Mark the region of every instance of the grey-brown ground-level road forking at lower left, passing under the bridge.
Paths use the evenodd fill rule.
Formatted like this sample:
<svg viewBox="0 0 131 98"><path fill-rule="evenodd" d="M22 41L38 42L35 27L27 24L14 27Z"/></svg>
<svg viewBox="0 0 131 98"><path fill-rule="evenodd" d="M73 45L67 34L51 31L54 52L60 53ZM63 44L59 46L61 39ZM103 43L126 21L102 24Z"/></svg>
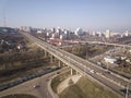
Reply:
<svg viewBox="0 0 131 98"><path fill-rule="evenodd" d="M69 71L67 68L48 73L46 75L43 75L40 77L27 81L23 84L20 84L17 86L11 87L7 90L0 91L0 97L11 95L11 94L29 94L34 95L37 98L52 98L50 95L50 91L48 90L48 82L51 79L53 75L57 74L57 72L66 72ZM39 85L39 87L34 87L35 85Z"/></svg>

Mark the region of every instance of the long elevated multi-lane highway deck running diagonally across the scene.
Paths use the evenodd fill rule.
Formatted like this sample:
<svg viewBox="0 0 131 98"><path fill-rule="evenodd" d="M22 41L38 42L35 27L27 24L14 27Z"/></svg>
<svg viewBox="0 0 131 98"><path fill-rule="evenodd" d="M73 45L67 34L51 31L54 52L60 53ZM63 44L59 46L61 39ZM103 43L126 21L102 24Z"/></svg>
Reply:
<svg viewBox="0 0 131 98"><path fill-rule="evenodd" d="M118 93L119 95L124 96L124 94L121 90L126 89L126 86L129 84L130 79L116 75L112 72L107 73L107 71L105 71L100 66L97 66L96 64L87 60L84 60L72 53L63 51L58 47L55 47L36 37L33 37L27 33L23 33L23 34L26 37L28 37L31 40L33 40L36 45L38 45L40 48L51 53L53 57L56 57L67 65L73 68L80 73L85 73L86 75L92 76L103 85L111 88L114 91ZM129 86L129 88L131 88L131 85Z"/></svg>

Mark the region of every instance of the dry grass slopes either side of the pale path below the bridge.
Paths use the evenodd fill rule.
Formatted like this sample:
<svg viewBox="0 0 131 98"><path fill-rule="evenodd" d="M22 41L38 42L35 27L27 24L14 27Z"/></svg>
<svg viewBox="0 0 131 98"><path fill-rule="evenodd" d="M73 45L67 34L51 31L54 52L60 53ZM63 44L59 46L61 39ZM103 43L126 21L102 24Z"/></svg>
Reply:
<svg viewBox="0 0 131 98"><path fill-rule="evenodd" d="M75 71L73 72L75 74ZM70 76L70 72L55 77L51 82L51 88L57 94L58 85ZM60 98L119 98L111 90L100 86L98 83L81 77L76 84L70 85L61 94Z"/></svg>

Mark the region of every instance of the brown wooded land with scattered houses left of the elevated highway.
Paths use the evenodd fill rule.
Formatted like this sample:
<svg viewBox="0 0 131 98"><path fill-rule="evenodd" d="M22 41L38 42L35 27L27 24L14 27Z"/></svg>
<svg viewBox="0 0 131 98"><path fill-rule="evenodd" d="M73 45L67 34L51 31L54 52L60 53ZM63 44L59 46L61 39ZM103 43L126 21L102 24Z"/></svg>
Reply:
<svg viewBox="0 0 131 98"><path fill-rule="evenodd" d="M49 65L49 57L44 57L44 50L23 35L0 33L0 85L37 72Z"/></svg>

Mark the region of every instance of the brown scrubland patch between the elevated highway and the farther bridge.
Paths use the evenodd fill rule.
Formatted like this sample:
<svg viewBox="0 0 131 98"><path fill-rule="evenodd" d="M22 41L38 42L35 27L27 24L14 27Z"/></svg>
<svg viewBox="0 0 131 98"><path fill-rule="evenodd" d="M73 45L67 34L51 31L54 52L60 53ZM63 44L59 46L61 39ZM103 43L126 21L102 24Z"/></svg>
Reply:
<svg viewBox="0 0 131 98"><path fill-rule="evenodd" d="M93 58L95 56L106 52L110 48L111 46L79 44L72 47L66 47L63 48L63 50L71 52L75 56L79 56L83 59L86 59L86 56L87 56L87 58L90 59L90 58Z"/></svg>

